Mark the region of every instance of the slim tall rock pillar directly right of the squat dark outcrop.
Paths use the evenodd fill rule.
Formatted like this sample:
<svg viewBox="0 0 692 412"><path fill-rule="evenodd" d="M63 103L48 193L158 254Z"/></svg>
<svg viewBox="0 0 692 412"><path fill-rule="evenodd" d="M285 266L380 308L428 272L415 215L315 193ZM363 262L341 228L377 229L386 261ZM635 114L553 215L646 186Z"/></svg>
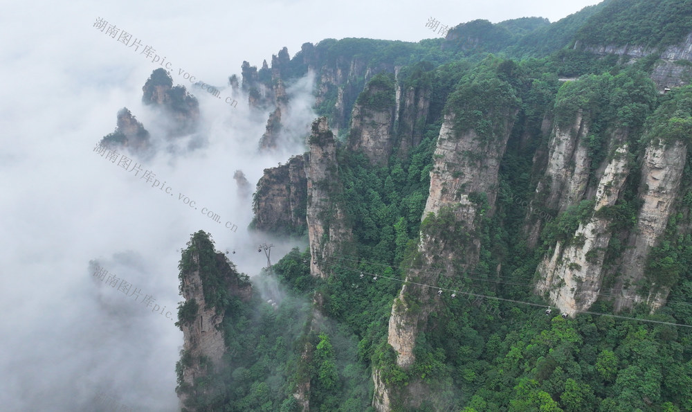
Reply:
<svg viewBox="0 0 692 412"><path fill-rule="evenodd" d="M340 245L350 242L352 231L346 224L342 206L335 200L342 188L337 171L336 141L327 118L319 118L312 124L309 144L306 175L310 273L326 278L327 272L320 262L331 258Z"/></svg>

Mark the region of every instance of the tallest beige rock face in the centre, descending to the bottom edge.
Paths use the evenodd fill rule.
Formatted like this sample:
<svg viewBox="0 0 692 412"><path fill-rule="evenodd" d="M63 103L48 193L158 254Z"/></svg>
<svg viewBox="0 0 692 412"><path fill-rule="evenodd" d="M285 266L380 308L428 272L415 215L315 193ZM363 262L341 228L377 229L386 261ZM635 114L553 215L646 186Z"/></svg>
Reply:
<svg viewBox="0 0 692 412"><path fill-rule="evenodd" d="M491 141L482 141L473 129L457 132L455 114L444 117L439 131L437 148L430 172L430 195L424 209L424 217L432 213L433 218L447 224L421 226L419 255L421 269L408 271L406 280L435 285L441 272L452 275L473 267L478 262L480 240L474 236L478 229L482 206L475 201L475 194L485 193L489 205L487 213L493 213L498 192L498 170L504 156L507 139L513 127L516 109L505 107L498 123L498 136ZM443 227L444 226L444 227ZM464 242L450 239L446 233L464 233ZM428 287L403 285L392 305L389 321L388 343L397 352L397 365L408 368L415 361L413 349L419 330L428 321L430 312L439 304L437 296ZM412 307L416 307L412 310ZM383 384L379 375L373 375L375 397L373 406L378 411L390 410L392 388ZM412 386L411 386L412 387ZM415 407L415 397L408 406Z"/></svg>

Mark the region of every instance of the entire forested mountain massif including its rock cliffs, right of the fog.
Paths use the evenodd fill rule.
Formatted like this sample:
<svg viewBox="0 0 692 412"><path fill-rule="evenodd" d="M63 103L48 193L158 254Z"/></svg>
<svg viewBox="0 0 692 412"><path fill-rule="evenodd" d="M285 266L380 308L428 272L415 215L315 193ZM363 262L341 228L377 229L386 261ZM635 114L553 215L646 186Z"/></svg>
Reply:
<svg viewBox="0 0 692 412"><path fill-rule="evenodd" d="M258 229L309 250L258 280L286 287L277 305L228 299L226 353L185 409L692 410L691 8L611 0L244 64L257 107L316 74L309 150L254 201ZM573 34L532 43L554 26Z"/></svg>

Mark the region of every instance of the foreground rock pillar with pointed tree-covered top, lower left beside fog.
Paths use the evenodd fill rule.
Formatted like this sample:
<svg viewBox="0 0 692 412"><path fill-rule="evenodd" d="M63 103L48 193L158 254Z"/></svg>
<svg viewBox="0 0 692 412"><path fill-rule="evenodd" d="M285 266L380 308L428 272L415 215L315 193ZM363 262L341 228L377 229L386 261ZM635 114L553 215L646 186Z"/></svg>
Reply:
<svg viewBox="0 0 692 412"><path fill-rule="evenodd" d="M209 261L211 260L211 261ZM240 278L235 271L235 265L230 263L223 253L213 250L208 235L198 232L190 240L189 247L183 251L181 269L181 295L185 298L185 319L179 319L178 325L183 330L183 357L181 367L181 382L176 388L182 404L192 393L205 393L205 388L195 386L195 380L208 375L215 365L221 361L226 352L224 334L220 328L224 314L213 303L205 298L204 279L209 279L206 265L214 265L216 273L220 274L219 284L226 294L237 296L242 301L249 301L252 296L252 285L248 280ZM205 269L203 269L203 267ZM179 312L180 314L181 312Z"/></svg>

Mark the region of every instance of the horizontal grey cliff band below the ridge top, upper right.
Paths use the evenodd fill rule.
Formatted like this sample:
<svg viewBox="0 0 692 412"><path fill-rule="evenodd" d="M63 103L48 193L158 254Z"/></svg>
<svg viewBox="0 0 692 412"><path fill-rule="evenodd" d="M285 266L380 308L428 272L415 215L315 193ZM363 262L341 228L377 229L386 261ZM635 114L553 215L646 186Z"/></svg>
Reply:
<svg viewBox="0 0 692 412"><path fill-rule="evenodd" d="M579 44L575 44L574 47L579 48ZM668 46L663 52L659 49L637 44L626 44L625 46L614 46L612 44L585 46L584 50L598 55L614 54L632 59L639 59L652 54L659 55L660 60L653 68L651 80L656 83L657 88L661 91L666 87L679 87L689 84L692 78L692 67L689 63L685 64L686 62L692 62L692 33L687 35L680 44Z"/></svg>

